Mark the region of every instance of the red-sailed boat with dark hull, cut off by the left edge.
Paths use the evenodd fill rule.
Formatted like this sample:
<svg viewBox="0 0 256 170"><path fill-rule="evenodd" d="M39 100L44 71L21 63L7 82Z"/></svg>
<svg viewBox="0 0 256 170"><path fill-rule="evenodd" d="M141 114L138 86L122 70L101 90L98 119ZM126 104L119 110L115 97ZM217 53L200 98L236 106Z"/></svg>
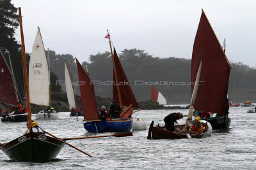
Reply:
<svg viewBox="0 0 256 170"><path fill-rule="evenodd" d="M10 55L9 55L10 60ZM4 55L0 50L0 80L4 80L0 85L0 99L1 104L8 106L11 113L7 113L6 110L1 114L2 122L27 122L28 113L14 114L16 110L16 104L21 103L20 96L18 94L15 78L13 75L12 64L8 66ZM10 69L11 68L11 69Z"/></svg>

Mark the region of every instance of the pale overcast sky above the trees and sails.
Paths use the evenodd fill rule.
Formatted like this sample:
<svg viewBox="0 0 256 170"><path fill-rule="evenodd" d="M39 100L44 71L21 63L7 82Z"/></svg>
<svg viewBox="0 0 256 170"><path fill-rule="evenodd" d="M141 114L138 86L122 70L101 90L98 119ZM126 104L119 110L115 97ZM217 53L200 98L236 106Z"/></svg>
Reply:
<svg viewBox="0 0 256 170"><path fill-rule="evenodd" d="M12 0L21 7L26 52L37 27L45 48L70 53L80 62L110 52L109 29L119 53L145 50L154 57L191 59L202 8L230 62L256 67L256 1L236 0ZM17 29L16 38L20 41Z"/></svg>

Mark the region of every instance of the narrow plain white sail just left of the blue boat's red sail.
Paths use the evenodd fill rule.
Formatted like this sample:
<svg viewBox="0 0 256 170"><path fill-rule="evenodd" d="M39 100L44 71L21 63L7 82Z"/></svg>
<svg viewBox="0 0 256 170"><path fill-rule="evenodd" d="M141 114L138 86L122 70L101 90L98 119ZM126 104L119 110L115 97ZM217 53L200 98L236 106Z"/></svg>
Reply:
<svg viewBox="0 0 256 170"><path fill-rule="evenodd" d="M68 97L68 106L69 106L69 110L71 110L72 108L76 108L76 102L75 102L75 96L74 96L74 89L73 89L70 75L68 73L68 67L66 62L65 62L65 85L66 85L66 91L67 91L67 97Z"/></svg>

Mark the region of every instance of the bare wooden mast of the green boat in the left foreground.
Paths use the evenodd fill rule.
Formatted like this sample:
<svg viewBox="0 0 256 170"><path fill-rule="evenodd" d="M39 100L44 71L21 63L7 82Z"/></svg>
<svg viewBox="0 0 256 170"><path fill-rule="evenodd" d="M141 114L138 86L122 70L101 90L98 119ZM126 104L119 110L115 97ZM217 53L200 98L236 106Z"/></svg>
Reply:
<svg viewBox="0 0 256 170"><path fill-rule="evenodd" d="M22 16L21 16L20 7L19 7L19 19L20 19L20 36L21 36L21 45L22 45L22 60L23 60L23 69L24 69L24 78L25 78L25 87L26 87L26 99L27 99L27 106L28 106L28 125L29 125L29 129L32 130L31 108L30 108L29 89L28 89L28 73L27 73L27 66L26 66L26 52L25 52L24 36L23 36L23 29L22 29Z"/></svg>

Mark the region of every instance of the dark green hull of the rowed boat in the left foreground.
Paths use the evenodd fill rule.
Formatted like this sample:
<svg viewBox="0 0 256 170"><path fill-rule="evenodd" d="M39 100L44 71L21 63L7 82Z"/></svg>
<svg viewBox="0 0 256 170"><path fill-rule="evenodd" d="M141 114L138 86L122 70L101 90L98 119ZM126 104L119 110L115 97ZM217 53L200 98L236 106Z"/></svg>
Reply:
<svg viewBox="0 0 256 170"><path fill-rule="evenodd" d="M23 162L47 162L55 159L65 145L59 139L29 132L1 146L1 150L11 159Z"/></svg>

